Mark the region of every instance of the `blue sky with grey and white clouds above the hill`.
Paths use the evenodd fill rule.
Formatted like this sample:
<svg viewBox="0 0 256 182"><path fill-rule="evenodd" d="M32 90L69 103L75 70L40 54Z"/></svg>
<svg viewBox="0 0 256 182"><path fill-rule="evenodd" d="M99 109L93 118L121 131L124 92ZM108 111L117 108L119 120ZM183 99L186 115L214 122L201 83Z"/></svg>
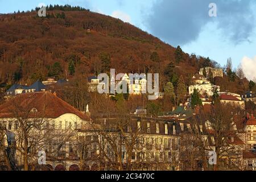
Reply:
<svg viewBox="0 0 256 182"><path fill-rule="evenodd" d="M249 80L256 78L255 0L0 0L0 13L69 4L110 15L189 54L210 57L222 66L231 57ZM216 5L216 16L209 16Z"/></svg>

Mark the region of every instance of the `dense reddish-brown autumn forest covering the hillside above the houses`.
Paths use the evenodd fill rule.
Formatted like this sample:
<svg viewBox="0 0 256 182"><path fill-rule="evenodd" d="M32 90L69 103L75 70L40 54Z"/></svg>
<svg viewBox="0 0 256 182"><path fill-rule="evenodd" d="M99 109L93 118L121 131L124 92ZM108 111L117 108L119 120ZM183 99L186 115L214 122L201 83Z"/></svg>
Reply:
<svg viewBox="0 0 256 182"><path fill-rule="evenodd" d="M168 81L177 88L181 75L188 86L200 68L220 67L111 16L69 5L47 6L46 17L38 17L37 10L0 15L0 87L47 77L86 79L115 68L118 73L159 73L163 90ZM221 90L249 89L246 78L232 68L224 71L224 78L212 81Z"/></svg>

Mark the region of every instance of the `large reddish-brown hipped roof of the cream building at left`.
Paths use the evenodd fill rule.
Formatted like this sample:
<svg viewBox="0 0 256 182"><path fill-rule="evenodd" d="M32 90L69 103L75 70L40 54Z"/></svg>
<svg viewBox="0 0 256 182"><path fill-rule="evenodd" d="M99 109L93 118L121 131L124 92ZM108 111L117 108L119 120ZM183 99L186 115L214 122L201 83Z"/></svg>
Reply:
<svg viewBox="0 0 256 182"><path fill-rule="evenodd" d="M34 108L37 111L35 113L30 112ZM14 118L14 111L18 113L19 117L57 118L60 115L70 113L86 121L90 119L51 92L19 94L0 106L0 118Z"/></svg>

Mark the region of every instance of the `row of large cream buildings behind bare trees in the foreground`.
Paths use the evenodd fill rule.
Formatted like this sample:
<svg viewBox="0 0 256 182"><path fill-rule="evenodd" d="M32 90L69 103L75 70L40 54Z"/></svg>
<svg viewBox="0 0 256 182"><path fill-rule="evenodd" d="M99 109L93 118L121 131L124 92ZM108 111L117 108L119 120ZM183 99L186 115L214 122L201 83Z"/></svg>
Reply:
<svg viewBox="0 0 256 182"><path fill-rule="evenodd" d="M233 160L243 160L245 169L253 169L256 119L249 114L236 120L237 117L234 114L230 126L236 135L226 138L226 146L239 148L240 154L232 154ZM0 106L1 131L6 134L4 146L11 149L9 155L13 156L15 167L24 166L24 123L38 126L31 127L33 132L26 144L30 164L36 164L38 151L44 150L49 169L72 166L87 170L202 170L205 166L200 154L193 164L188 161L191 158L187 150L192 147L197 151L191 138L199 133L213 151L217 142L211 121L186 107L179 106L158 118L147 117L144 109L128 115L90 117L51 92L23 93ZM206 158L208 152L205 151Z"/></svg>

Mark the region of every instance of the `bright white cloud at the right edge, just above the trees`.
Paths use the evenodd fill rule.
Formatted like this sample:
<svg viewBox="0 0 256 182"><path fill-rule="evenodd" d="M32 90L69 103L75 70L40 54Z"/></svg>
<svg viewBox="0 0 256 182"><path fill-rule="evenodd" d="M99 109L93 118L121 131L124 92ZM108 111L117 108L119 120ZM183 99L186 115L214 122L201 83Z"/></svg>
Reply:
<svg viewBox="0 0 256 182"><path fill-rule="evenodd" d="M253 59L245 56L241 61L241 68L248 80L256 79L256 56Z"/></svg>

